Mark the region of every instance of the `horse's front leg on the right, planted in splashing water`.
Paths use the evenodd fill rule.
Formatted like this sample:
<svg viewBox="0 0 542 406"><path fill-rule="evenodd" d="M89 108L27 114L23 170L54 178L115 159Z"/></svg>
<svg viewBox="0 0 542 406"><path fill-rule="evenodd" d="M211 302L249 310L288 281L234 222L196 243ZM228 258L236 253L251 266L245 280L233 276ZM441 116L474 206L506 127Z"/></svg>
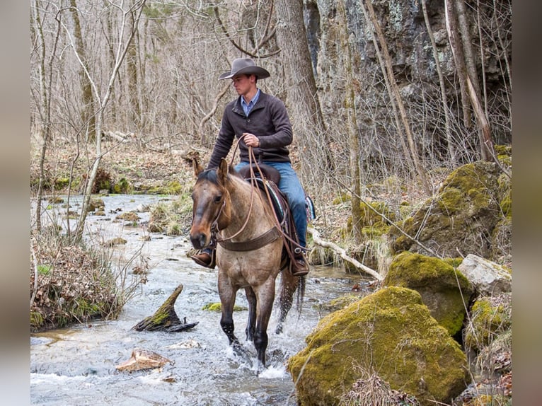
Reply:
<svg viewBox="0 0 542 406"><path fill-rule="evenodd" d="M265 366L265 350L267 349L267 325L275 301L275 279L270 277L265 284L258 288L256 293L256 330L254 332L254 347L258 352L258 360Z"/></svg>

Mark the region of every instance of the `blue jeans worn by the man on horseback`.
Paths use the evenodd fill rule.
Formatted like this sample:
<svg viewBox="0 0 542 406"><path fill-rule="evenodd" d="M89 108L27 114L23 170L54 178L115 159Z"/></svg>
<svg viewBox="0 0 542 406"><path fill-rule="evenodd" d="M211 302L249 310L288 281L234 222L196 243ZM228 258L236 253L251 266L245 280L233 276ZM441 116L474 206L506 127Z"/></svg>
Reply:
<svg viewBox="0 0 542 406"><path fill-rule="evenodd" d="M294 224L296 225L297 236L299 237L299 245L306 247L307 233L307 214L305 209L305 191L297 178L296 171L292 168L289 162L269 162L263 161L266 165L272 166L280 173L279 189L288 199ZM248 162L240 162L236 165L236 170L248 165Z"/></svg>

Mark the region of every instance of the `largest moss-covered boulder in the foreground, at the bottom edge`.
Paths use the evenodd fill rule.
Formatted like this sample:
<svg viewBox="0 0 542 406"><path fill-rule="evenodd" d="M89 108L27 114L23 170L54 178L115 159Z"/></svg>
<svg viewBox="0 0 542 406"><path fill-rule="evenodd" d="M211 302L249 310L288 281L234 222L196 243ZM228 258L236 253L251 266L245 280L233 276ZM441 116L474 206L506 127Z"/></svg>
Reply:
<svg viewBox="0 0 542 406"><path fill-rule="evenodd" d="M451 402L470 381L459 344L411 289L384 288L325 316L306 342L287 365L303 406L338 405L359 370L427 406Z"/></svg>

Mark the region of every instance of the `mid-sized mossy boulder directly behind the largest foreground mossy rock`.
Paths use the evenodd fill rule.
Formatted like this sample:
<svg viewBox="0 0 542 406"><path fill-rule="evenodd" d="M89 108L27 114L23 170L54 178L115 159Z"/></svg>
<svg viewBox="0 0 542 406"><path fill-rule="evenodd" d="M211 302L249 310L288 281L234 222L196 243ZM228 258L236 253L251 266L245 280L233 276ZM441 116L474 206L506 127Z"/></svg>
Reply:
<svg viewBox="0 0 542 406"><path fill-rule="evenodd" d="M393 258L383 286L419 292L432 317L451 336L461 331L466 306L474 294L471 282L456 267L438 258L408 252Z"/></svg>

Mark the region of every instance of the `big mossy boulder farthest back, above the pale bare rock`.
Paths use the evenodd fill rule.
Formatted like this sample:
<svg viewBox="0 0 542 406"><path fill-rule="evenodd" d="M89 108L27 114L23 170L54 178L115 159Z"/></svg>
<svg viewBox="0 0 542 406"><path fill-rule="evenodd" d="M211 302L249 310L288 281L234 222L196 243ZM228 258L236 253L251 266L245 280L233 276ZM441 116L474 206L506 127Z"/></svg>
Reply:
<svg viewBox="0 0 542 406"><path fill-rule="evenodd" d="M398 226L388 231L392 253L412 251L454 257L476 254L492 259L491 236L503 217L500 169L495 163L475 162L457 168L443 182L436 197L427 201Z"/></svg>

